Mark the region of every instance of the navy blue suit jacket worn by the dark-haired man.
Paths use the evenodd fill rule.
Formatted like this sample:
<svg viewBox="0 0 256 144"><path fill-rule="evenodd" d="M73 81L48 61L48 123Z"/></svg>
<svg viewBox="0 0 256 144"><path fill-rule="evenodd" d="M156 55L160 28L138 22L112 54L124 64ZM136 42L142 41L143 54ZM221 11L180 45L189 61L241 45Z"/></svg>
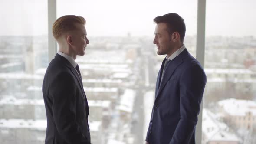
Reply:
<svg viewBox="0 0 256 144"><path fill-rule="evenodd" d="M165 62L165 60L164 60ZM195 126L206 84L200 63L187 49L158 73L146 141L150 144L195 144Z"/></svg>

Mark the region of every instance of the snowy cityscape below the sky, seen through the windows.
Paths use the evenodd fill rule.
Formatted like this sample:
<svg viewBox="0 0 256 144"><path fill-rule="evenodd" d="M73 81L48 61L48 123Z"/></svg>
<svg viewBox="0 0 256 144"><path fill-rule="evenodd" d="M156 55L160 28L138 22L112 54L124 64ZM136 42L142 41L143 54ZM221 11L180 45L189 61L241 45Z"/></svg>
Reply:
<svg viewBox="0 0 256 144"><path fill-rule="evenodd" d="M0 144L44 144L47 36L0 36ZM153 37L89 37L78 56L92 144L144 144L158 70ZM196 57L196 36L184 44ZM53 48L54 49L54 48ZM206 37L202 144L256 144L256 37Z"/></svg>

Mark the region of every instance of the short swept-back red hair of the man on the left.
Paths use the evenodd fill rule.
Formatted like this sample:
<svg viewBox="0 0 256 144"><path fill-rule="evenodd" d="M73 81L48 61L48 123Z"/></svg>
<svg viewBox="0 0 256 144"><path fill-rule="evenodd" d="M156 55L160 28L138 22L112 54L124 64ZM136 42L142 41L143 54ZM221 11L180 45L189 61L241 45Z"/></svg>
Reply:
<svg viewBox="0 0 256 144"><path fill-rule="evenodd" d="M63 33L77 29L76 24L85 25L86 21L82 16L66 15L59 17L53 23L53 36L57 40Z"/></svg>

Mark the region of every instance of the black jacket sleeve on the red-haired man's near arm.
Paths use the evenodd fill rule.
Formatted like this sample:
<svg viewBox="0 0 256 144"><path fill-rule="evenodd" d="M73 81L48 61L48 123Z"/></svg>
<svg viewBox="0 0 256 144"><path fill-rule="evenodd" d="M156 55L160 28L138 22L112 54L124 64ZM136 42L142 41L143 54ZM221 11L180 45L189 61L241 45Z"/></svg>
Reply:
<svg viewBox="0 0 256 144"><path fill-rule="evenodd" d="M69 72L61 72L49 86L53 120L57 131L68 144L90 144L76 121L76 84Z"/></svg>

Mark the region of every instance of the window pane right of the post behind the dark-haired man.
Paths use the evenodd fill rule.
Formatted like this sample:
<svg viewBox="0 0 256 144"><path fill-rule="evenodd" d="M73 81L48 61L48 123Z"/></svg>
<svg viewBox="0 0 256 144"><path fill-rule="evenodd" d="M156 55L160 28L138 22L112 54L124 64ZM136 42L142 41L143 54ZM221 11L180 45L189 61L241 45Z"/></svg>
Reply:
<svg viewBox="0 0 256 144"><path fill-rule="evenodd" d="M203 144L256 143L255 5L207 0Z"/></svg>

